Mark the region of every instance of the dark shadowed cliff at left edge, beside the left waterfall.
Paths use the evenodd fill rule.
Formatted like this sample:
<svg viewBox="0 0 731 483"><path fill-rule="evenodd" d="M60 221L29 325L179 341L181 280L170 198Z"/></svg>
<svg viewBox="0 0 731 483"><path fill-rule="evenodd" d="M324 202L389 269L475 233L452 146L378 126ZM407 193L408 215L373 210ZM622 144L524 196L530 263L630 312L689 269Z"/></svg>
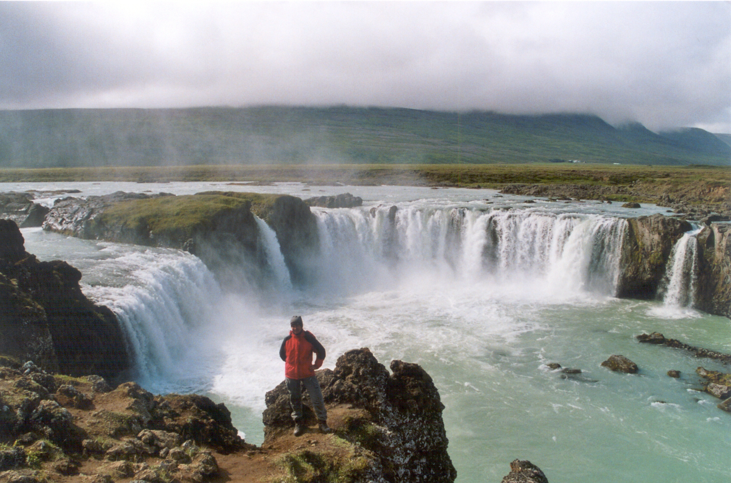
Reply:
<svg viewBox="0 0 731 483"><path fill-rule="evenodd" d="M67 262L39 262L18 225L0 220L0 353L76 376L129 368L116 316L86 298L80 279Z"/></svg>

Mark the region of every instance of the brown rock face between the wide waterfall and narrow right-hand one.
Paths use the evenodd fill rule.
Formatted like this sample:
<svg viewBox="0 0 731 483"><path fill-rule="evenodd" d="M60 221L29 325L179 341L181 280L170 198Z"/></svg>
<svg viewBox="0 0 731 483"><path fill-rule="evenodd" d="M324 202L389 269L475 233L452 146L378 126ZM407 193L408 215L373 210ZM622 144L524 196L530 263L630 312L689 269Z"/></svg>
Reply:
<svg viewBox="0 0 731 483"><path fill-rule="evenodd" d="M675 242L690 229L688 221L660 214L629 218L617 297L654 299Z"/></svg>

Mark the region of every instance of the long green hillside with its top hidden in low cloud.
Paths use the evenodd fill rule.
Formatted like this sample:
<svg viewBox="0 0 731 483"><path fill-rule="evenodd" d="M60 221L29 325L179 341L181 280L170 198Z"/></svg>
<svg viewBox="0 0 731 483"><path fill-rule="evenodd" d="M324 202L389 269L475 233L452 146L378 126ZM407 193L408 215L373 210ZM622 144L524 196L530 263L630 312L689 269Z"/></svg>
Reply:
<svg viewBox="0 0 731 483"><path fill-rule="evenodd" d="M593 115L357 107L0 111L1 167L189 164L731 165L702 129L656 134Z"/></svg>

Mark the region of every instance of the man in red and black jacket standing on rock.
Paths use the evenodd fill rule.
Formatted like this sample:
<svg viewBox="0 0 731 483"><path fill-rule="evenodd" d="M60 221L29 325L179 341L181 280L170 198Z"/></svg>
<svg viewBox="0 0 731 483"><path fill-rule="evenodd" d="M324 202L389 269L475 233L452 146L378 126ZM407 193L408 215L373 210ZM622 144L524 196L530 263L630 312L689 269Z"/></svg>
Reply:
<svg viewBox="0 0 731 483"><path fill-rule="evenodd" d="M292 330L281 343L279 357L284 361L289 403L292 405L292 418L295 419L295 436L300 436L305 431L302 417L302 386L310 395L320 431L330 433L330 427L327 427L327 411L325 402L322 400L322 390L315 376L315 370L319 369L322 361L325 360L325 348L312 335L312 332L303 329L302 317L292 317L289 327ZM317 354L314 364L312 363L313 352Z"/></svg>

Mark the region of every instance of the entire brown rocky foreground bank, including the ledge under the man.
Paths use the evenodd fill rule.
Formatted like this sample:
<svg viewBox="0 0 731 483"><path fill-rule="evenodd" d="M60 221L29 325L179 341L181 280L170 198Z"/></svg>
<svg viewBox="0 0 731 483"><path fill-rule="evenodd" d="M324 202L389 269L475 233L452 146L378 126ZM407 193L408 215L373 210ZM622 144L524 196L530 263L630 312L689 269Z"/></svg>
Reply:
<svg viewBox="0 0 731 483"><path fill-rule="evenodd" d="M317 372L327 434L308 406L308 429L292 434L280 384L267 394L257 447L203 396L152 395L134 382L113 389L100 376L0 357L0 482L453 482L431 377L408 362L390 368L355 349Z"/></svg>

